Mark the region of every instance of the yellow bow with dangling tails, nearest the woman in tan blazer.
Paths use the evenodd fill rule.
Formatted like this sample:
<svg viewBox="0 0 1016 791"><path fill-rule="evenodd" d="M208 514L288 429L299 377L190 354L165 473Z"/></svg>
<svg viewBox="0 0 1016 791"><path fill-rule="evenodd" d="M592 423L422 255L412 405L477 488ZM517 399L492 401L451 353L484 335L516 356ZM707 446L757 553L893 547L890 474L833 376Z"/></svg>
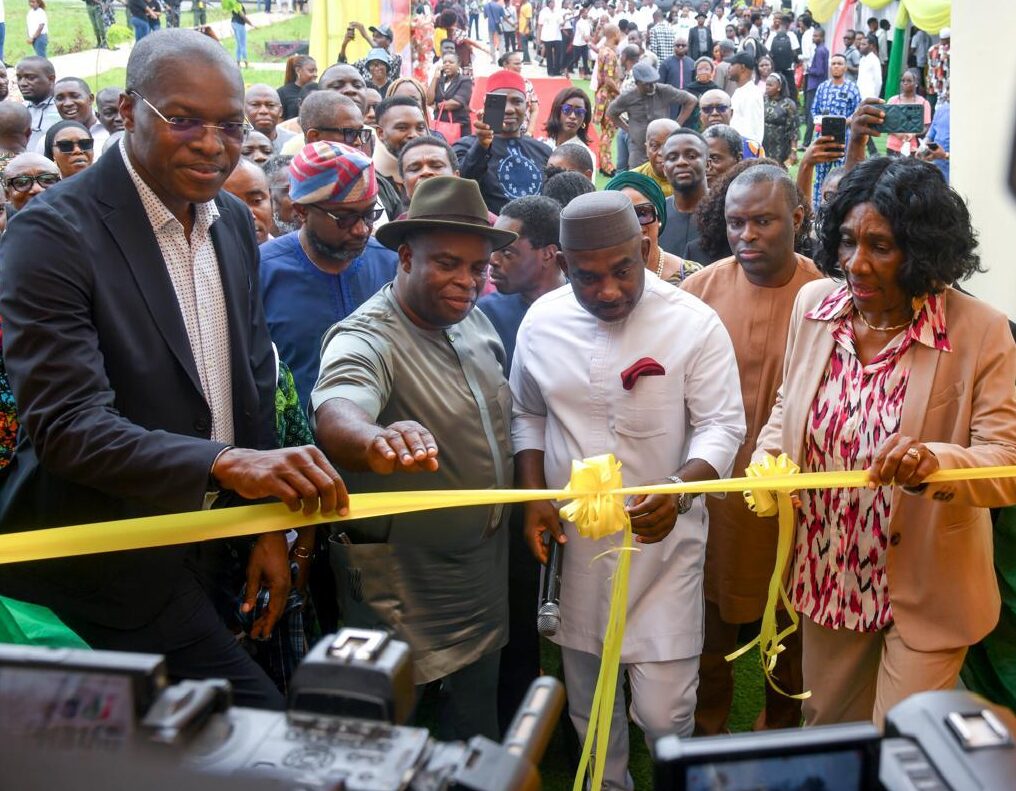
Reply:
<svg viewBox="0 0 1016 791"><path fill-rule="evenodd" d="M800 470L801 468L785 453L781 453L777 458L773 458L767 453L762 459L752 462L751 466L745 470L745 473L749 478L756 478L759 482L763 482L766 479L792 476ZM793 606L790 604L786 585L783 583L786 575L786 566L790 562L790 554L793 551L795 521L790 492L754 488L745 491L745 502L748 503L748 508L754 511L756 516L769 517L773 514L779 514L779 534L776 540L776 566L773 569L772 577L769 578L769 592L766 596L765 609L762 612L762 627L759 630L758 637L724 658L727 662L733 662L739 656L746 654L755 646L758 646L762 672L765 674L765 679L769 685L782 696L792 698L796 701L806 701L812 696L810 691L802 691L797 695L783 691L773 677L776 669L776 659L785 648L783 641L798 631L800 621L797 611L795 611ZM790 624L781 632L776 629L777 600L782 602L783 608L790 618Z"/></svg>

